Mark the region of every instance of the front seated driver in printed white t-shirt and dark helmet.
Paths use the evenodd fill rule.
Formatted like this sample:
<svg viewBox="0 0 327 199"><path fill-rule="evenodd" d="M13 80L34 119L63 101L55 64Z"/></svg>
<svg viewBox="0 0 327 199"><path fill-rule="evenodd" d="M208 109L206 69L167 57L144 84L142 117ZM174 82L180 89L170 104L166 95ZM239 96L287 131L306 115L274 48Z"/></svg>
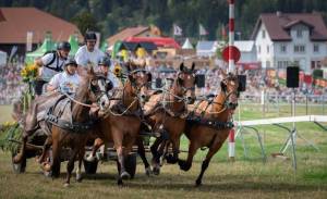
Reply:
<svg viewBox="0 0 327 199"><path fill-rule="evenodd" d="M69 59L64 64L64 72L55 75L47 87L48 91L60 90L65 94L75 94L80 84L80 76L76 73L77 63Z"/></svg>

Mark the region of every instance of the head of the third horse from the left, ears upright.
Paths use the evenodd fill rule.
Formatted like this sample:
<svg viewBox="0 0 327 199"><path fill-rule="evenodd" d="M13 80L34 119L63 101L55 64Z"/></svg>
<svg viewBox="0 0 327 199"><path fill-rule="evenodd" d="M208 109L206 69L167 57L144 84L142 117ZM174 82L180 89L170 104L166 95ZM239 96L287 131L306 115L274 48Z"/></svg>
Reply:
<svg viewBox="0 0 327 199"><path fill-rule="evenodd" d="M194 103L196 83L195 64L192 63L192 67L187 69L184 66L184 63L181 63L175 83L174 89L177 95L184 97L187 103Z"/></svg>

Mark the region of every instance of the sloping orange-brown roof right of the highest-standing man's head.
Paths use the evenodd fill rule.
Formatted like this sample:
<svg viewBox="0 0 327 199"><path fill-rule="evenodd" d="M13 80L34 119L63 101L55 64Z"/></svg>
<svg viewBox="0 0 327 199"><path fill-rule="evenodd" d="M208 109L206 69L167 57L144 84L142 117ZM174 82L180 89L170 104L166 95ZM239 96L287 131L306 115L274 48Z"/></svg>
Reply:
<svg viewBox="0 0 327 199"><path fill-rule="evenodd" d="M138 36L140 34L149 29L150 28L148 26L128 27L119 32L118 34L107 38L107 42L109 43L109 46L111 46L118 40L125 40L129 37Z"/></svg>

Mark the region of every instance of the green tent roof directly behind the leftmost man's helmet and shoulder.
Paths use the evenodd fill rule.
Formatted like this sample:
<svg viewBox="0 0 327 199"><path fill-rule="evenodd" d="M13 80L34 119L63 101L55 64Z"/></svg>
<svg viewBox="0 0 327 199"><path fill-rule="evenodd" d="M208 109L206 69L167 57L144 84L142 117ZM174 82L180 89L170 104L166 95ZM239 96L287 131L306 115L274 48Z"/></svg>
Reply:
<svg viewBox="0 0 327 199"><path fill-rule="evenodd" d="M31 64L35 59L43 57L46 52L55 50L55 42L51 37L46 37L44 43L34 52L26 53L25 63Z"/></svg>

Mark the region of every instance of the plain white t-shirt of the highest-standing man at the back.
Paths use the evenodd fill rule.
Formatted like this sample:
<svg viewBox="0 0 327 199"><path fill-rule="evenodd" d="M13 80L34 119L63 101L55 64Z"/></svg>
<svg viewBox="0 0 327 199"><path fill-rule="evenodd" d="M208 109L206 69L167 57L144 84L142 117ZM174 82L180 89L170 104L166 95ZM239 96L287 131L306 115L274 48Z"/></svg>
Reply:
<svg viewBox="0 0 327 199"><path fill-rule="evenodd" d="M95 48L93 52L89 52L86 45L84 45L78 48L75 54L75 60L77 64L82 66L86 66L88 62L90 62L94 66L97 66L102 57L105 57L105 53L98 48Z"/></svg>

